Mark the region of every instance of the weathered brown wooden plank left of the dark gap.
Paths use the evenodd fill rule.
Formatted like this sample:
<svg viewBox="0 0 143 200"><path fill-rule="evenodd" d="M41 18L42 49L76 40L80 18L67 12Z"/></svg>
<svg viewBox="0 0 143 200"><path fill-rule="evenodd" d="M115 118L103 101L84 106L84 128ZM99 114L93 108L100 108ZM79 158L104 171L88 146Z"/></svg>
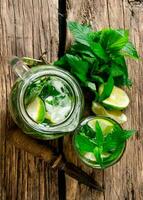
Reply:
<svg viewBox="0 0 143 200"><path fill-rule="evenodd" d="M57 59L59 44L58 0L0 0L0 199L58 199L57 173L46 163L7 144L13 124L8 96L14 75L8 66L12 55Z"/></svg>

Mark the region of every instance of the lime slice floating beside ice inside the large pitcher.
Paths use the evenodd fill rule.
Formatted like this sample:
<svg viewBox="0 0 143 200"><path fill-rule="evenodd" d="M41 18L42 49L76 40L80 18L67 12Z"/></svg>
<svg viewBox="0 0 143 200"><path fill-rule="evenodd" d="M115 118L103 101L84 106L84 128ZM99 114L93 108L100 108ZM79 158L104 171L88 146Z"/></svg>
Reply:
<svg viewBox="0 0 143 200"><path fill-rule="evenodd" d="M36 97L26 109L28 115L37 123L42 123L45 118L45 105L44 102Z"/></svg>

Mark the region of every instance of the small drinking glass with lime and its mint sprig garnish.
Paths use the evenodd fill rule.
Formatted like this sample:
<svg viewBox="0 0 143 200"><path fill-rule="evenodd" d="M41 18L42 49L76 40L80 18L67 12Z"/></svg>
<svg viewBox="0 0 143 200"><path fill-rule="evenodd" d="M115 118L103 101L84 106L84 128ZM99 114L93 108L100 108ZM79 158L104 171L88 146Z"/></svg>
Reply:
<svg viewBox="0 0 143 200"><path fill-rule="evenodd" d="M84 163L93 168L104 169L121 158L126 140L134 133L134 130L123 130L110 118L89 117L77 129L73 145Z"/></svg>

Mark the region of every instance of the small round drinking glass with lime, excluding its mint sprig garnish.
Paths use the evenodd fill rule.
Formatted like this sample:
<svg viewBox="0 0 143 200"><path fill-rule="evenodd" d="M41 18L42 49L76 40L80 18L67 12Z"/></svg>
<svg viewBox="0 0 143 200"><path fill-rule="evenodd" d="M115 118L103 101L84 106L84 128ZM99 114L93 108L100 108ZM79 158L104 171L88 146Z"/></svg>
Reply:
<svg viewBox="0 0 143 200"><path fill-rule="evenodd" d="M110 167L117 163L120 158L123 156L123 153L126 148L126 142L121 143L118 148L111 149L110 152L102 152L101 156L103 159L103 166L98 163L94 148L96 147L96 133L95 133L95 140L93 141L91 137L89 136L88 131L86 131L86 136L83 133L82 128L85 125L89 125L93 130L95 130L96 122L99 122L103 136L108 136L109 133L112 133L113 126L115 125L120 130L122 127L114 120L110 119L109 117L103 117L103 116L90 116L84 119L77 130L75 131L75 134L73 135L73 147L75 152L77 153L78 157L82 162L84 162L86 165L97 168L97 169L104 169L107 167ZM81 135L81 137L80 137ZM93 134L94 135L94 134Z"/></svg>

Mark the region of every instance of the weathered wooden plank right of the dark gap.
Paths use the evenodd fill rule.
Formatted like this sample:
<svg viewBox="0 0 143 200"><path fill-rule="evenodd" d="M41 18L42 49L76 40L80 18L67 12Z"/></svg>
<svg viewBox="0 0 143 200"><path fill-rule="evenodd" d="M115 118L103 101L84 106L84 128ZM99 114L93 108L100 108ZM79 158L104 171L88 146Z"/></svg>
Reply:
<svg viewBox="0 0 143 200"><path fill-rule="evenodd" d="M143 5L141 1L80 0L77 3L75 0L68 0L67 12L69 19L87 22L94 29L104 27L128 28L132 41L140 55L142 55ZM143 105L143 67L142 62L131 60L128 61L128 65L134 84L132 89L128 91L131 103L126 111L128 122L125 127L135 128L139 132L128 142L122 160L115 166L104 170L104 172L92 170L82 164L73 151L71 145L72 137L65 137L64 151L66 157L81 166L82 169L86 170L105 186L105 192L98 194L85 186L78 185L75 180L66 177L67 199L143 199L143 145L141 142L143 138L143 111L141 109Z"/></svg>

